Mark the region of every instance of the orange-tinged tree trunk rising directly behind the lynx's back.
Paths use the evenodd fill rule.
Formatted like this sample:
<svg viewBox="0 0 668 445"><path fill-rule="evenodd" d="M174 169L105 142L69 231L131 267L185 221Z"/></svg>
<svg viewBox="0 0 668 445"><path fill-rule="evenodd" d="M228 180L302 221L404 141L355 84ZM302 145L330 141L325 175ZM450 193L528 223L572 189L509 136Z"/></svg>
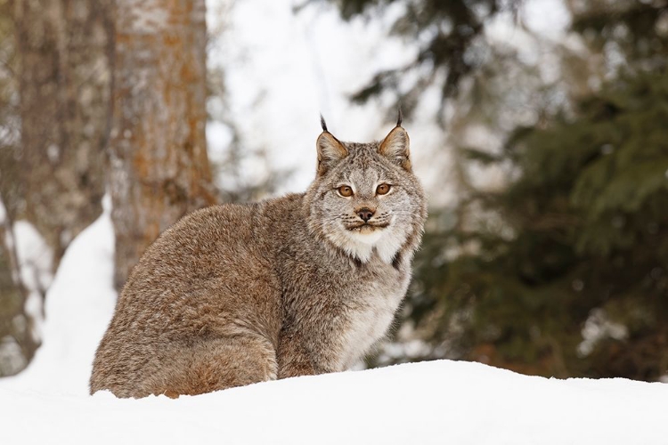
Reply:
<svg viewBox="0 0 668 445"><path fill-rule="evenodd" d="M206 38L204 0L116 4L110 188L118 288L161 231L214 202Z"/></svg>

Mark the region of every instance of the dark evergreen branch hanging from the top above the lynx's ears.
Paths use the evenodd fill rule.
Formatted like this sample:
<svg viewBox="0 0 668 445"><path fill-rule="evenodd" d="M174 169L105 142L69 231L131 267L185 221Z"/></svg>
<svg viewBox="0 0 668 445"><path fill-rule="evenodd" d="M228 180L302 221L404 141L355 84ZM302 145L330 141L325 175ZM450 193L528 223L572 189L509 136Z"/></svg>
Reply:
<svg viewBox="0 0 668 445"><path fill-rule="evenodd" d="M404 114L410 114L428 85L441 90L439 117L448 99L459 93L463 79L481 69L489 47L483 36L486 23L501 12L517 12L522 0L328 0L338 5L341 16L350 20L368 12L379 13L391 4L401 11L389 33L414 42L415 57L370 79L353 101L364 102L384 91L395 94ZM309 2L306 2L306 4ZM411 78L411 82L406 79ZM396 105L392 107L394 115Z"/></svg>

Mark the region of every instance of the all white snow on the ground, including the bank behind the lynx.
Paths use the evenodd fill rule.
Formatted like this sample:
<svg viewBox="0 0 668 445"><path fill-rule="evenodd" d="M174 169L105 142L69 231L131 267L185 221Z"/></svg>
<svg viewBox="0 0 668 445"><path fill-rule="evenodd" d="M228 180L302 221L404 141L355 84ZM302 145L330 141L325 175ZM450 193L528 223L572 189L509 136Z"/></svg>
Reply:
<svg viewBox="0 0 668 445"><path fill-rule="evenodd" d="M668 384L546 379L439 360L253 384L177 400L87 394L110 320L108 202L47 295L44 345L0 380L3 444L666 444Z"/></svg>

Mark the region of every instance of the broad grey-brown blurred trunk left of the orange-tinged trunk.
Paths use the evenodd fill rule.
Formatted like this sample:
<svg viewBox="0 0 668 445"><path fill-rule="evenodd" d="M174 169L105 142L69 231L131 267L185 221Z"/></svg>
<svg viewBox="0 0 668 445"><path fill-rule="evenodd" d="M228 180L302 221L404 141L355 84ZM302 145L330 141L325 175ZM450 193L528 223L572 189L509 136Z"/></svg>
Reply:
<svg viewBox="0 0 668 445"><path fill-rule="evenodd" d="M102 213L110 116L108 0L14 0L24 212L53 248Z"/></svg>

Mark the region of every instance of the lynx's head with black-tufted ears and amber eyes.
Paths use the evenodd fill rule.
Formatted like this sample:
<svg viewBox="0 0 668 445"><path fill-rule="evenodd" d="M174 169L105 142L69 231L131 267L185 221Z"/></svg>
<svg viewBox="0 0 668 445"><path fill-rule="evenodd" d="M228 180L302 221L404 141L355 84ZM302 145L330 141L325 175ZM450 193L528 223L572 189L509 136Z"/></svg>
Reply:
<svg viewBox="0 0 668 445"><path fill-rule="evenodd" d="M383 141L354 143L338 141L322 119L317 174L306 192L309 229L363 263L374 253L393 263L420 243L427 207L401 121L400 112Z"/></svg>

